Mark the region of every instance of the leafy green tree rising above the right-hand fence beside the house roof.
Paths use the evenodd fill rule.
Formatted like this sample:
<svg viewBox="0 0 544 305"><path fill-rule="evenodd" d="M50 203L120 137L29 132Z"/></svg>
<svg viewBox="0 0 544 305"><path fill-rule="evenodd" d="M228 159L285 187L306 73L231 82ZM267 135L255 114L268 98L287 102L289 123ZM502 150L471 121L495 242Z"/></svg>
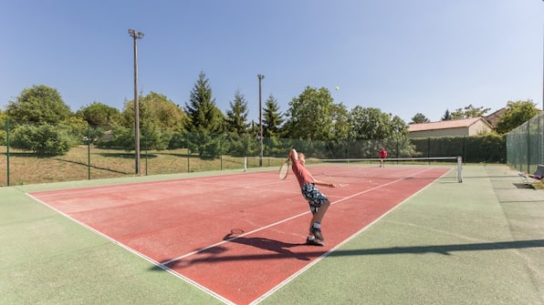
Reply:
<svg viewBox="0 0 544 305"><path fill-rule="evenodd" d="M537 108L537 104L530 99L517 102L508 101L507 111L498 119L497 133L506 134L539 113L540 110Z"/></svg>

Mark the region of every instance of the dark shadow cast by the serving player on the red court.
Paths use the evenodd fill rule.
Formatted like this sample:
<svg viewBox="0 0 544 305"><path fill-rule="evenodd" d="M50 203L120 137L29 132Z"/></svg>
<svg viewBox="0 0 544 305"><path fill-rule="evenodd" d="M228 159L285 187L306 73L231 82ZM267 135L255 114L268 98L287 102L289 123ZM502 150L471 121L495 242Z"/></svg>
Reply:
<svg viewBox="0 0 544 305"><path fill-rule="evenodd" d="M228 233L225 235L223 240L228 242L234 242L241 245L251 246L258 249L266 249L268 251L276 252L277 255L275 256L277 259L300 259L300 260L309 260L309 257L301 254L301 253L294 253L290 248L298 247L298 246L305 246L305 243L287 243L283 241L278 241L275 239L265 239L265 238L246 238L243 236L235 236L233 233Z"/></svg>

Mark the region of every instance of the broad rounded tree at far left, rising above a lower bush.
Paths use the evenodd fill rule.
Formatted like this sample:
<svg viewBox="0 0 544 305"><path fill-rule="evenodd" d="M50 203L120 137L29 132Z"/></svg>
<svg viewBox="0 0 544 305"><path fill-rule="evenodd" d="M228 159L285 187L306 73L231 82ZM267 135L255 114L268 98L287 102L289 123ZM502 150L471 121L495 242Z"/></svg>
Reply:
<svg viewBox="0 0 544 305"><path fill-rule="evenodd" d="M6 113L15 124L57 124L72 115L57 89L44 85L24 89L16 101L8 103Z"/></svg>

